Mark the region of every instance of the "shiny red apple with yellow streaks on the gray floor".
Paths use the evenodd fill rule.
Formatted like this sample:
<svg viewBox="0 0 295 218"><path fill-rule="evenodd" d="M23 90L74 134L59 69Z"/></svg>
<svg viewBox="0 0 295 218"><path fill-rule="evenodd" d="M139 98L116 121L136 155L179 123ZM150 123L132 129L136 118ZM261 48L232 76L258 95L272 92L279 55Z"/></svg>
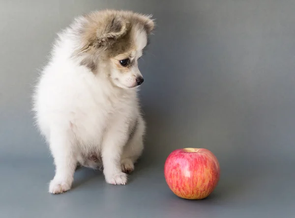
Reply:
<svg viewBox="0 0 295 218"><path fill-rule="evenodd" d="M217 186L220 167L217 158L205 148L173 151L164 165L168 187L178 197L204 199Z"/></svg>

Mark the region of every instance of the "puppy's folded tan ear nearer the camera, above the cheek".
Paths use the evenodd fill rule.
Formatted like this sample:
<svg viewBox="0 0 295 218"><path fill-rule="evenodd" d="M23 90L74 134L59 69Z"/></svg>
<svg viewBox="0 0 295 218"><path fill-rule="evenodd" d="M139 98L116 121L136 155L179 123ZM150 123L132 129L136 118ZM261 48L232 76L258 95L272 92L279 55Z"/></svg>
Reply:
<svg viewBox="0 0 295 218"><path fill-rule="evenodd" d="M97 29L96 37L98 42L108 42L111 39L116 39L122 36L127 31L127 21L120 16L115 16L113 18L107 18L108 21L105 25Z"/></svg>

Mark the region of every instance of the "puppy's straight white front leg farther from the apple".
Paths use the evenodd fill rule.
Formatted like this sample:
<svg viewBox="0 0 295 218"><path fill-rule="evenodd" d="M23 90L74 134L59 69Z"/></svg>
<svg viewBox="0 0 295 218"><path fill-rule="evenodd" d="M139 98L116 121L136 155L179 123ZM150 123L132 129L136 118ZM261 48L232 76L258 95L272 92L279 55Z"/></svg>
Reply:
<svg viewBox="0 0 295 218"><path fill-rule="evenodd" d="M77 160L73 150L73 140L64 131L53 131L50 149L56 166L56 173L49 185L49 192L58 194L71 189Z"/></svg>

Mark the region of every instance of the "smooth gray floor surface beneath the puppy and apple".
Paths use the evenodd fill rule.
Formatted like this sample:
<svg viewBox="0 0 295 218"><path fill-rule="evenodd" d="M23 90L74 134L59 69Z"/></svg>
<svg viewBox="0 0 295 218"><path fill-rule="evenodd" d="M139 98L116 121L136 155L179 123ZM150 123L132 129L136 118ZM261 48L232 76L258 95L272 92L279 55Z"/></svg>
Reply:
<svg viewBox="0 0 295 218"><path fill-rule="evenodd" d="M295 216L294 163L224 166L215 191L207 199L196 201L174 195L166 185L163 163L148 164L145 158L125 186L108 185L101 172L80 168L73 189L59 195L47 192L54 175L50 158L2 161L1 218Z"/></svg>

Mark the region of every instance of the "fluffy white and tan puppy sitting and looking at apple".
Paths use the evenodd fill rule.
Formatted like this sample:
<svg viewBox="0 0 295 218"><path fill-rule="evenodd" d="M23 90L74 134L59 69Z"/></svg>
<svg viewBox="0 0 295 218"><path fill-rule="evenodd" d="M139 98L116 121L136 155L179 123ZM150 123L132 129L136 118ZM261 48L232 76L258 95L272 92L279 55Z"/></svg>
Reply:
<svg viewBox="0 0 295 218"><path fill-rule="evenodd" d="M58 34L32 107L54 158L49 192L70 190L77 165L101 168L109 184L126 184L144 149L138 59L153 28L150 16L103 10Z"/></svg>

